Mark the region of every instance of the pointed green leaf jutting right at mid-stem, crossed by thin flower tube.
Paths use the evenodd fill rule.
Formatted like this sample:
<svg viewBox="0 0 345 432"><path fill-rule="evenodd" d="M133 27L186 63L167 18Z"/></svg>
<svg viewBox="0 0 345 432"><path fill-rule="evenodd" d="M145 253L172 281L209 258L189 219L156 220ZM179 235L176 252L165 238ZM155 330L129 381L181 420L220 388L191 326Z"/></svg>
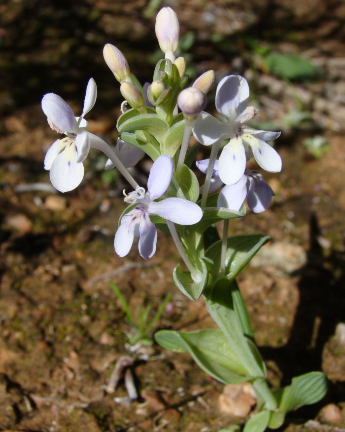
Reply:
<svg viewBox="0 0 345 432"><path fill-rule="evenodd" d="M225 276L233 280L269 240L269 236L261 234L230 236L225 256ZM218 240L205 253L214 262L214 275L219 274L221 247L222 240Z"/></svg>

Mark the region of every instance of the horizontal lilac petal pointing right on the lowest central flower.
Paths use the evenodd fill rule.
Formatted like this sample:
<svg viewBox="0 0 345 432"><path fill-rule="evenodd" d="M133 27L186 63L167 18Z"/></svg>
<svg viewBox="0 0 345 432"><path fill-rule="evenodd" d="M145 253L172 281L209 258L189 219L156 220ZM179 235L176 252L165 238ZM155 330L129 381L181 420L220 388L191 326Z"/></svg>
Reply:
<svg viewBox="0 0 345 432"><path fill-rule="evenodd" d="M150 202L147 211L180 225L194 225L203 217L203 211L198 204L183 198Z"/></svg>

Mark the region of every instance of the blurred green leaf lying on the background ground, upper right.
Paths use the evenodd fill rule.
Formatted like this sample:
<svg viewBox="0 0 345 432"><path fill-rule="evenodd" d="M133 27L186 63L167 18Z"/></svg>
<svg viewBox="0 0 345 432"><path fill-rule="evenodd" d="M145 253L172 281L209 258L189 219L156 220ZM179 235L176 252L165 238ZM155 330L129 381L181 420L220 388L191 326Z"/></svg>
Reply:
<svg viewBox="0 0 345 432"><path fill-rule="evenodd" d="M264 57L268 69L281 78L310 80L321 75L320 69L297 54L272 53Z"/></svg>

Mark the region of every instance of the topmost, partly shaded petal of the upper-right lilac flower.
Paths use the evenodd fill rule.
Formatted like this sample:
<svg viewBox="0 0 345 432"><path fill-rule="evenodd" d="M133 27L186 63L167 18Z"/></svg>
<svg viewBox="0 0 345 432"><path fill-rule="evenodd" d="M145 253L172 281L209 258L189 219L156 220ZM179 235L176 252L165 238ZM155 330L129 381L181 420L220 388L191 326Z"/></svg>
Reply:
<svg viewBox="0 0 345 432"><path fill-rule="evenodd" d="M228 75L217 86L216 109L229 120L235 120L245 110L249 98L249 85L240 75Z"/></svg>

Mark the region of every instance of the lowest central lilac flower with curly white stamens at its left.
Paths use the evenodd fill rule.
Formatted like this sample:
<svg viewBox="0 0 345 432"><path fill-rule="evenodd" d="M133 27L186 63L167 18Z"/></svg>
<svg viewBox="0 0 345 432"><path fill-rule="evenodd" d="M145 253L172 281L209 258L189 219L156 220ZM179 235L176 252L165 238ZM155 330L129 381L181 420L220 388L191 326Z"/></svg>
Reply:
<svg viewBox="0 0 345 432"><path fill-rule="evenodd" d="M173 177L173 159L170 156L158 157L152 165L147 182L147 192L144 188L137 187L125 197L129 203L138 203L134 209L126 213L118 228L114 247L120 256L126 256L131 250L134 237L139 237L139 253L144 259L151 258L156 251L157 230L150 221L150 215L158 215L162 218L180 225L193 225L203 216L201 208L194 202L182 198L161 197Z"/></svg>

